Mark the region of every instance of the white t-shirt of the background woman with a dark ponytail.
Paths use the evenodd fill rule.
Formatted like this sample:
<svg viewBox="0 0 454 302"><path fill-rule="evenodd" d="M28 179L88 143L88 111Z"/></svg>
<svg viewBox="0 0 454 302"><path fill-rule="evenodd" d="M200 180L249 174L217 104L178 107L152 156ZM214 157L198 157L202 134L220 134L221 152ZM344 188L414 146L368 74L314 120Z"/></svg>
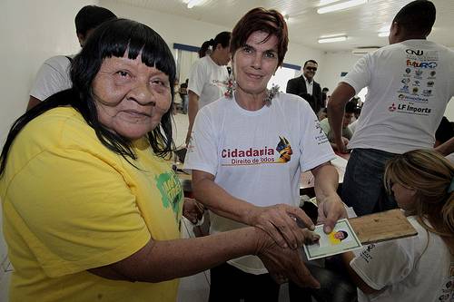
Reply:
<svg viewBox="0 0 454 302"><path fill-rule="evenodd" d="M209 55L192 64L188 89L199 96L199 109L224 95L228 77L227 67L214 63Z"/></svg>

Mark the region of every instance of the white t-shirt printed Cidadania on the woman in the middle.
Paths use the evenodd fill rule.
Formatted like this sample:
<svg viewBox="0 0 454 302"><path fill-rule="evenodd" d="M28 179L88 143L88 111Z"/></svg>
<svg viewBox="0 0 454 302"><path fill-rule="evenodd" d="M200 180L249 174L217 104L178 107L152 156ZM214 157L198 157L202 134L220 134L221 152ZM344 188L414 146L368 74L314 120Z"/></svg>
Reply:
<svg viewBox="0 0 454 302"><path fill-rule="evenodd" d="M309 103L297 95L279 93L271 106L253 112L225 97L203 107L195 119L184 165L214 175L222 189L254 205L298 206L301 171L334 157ZM212 233L244 227L218 215L211 218ZM257 257L229 263L252 274L267 272Z"/></svg>

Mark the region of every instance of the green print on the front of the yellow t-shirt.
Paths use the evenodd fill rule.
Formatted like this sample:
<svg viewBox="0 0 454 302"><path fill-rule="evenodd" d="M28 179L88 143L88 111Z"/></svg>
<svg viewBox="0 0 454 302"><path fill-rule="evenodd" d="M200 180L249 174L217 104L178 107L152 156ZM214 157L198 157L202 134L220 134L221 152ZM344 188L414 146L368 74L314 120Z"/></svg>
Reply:
<svg viewBox="0 0 454 302"><path fill-rule="evenodd" d="M172 207L175 219L178 220L179 204L183 200L183 190L180 181L174 173L162 173L154 179L156 180L156 186L161 192L164 208Z"/></svg>

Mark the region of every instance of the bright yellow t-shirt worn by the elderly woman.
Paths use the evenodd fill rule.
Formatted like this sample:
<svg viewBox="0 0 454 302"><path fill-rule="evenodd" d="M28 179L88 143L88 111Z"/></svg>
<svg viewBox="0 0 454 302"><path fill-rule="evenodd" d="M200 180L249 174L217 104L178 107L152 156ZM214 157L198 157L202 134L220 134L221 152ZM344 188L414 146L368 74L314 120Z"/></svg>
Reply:
<svg viewBox="0 0 454 302"><path fill-rule="evenodd" d="M178 280L115 281L86 271L127 258L150 238L180 238L180 182L147 141L133 149L135 167L72 108L45 112L19 133L0 179L11 302L176 299Z"/></svg>

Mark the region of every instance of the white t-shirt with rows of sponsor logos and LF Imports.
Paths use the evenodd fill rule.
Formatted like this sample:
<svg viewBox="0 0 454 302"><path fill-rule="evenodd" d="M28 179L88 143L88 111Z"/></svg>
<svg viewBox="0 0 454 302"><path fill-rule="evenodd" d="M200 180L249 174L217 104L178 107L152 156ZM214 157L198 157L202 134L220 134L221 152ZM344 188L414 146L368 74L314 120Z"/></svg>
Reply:
<svg viewBox="0 0 454 302"><path fill-rule="evenodd" d="M433 148L454 95L454 52L427 40L390 44L364 55L342 82L355 93L368 87L350 149Z"/></svg>

